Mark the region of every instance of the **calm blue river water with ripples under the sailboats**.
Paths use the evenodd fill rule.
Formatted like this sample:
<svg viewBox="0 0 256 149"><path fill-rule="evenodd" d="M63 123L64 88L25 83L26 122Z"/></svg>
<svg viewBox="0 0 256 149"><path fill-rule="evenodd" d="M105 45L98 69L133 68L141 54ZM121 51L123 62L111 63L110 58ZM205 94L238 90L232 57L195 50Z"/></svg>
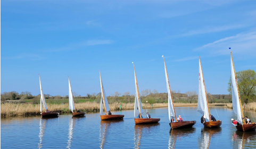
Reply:
<svg viewBox="0 0 256 149"><path fill-rule="evenodd" d="M222 120L221 128L203 128L201 115L193 108L176 108L184 120L196 120L191 129L171 130L168 109L146 109L159 124L135 125L134 111L115 112L125 115L121 121L101 121L100 114L83 118L61 115L1 119L2 148L255 148L255 132L237 132L231 124L232 110L211 108L211 114ZM184 116L184 114L186 114ZM256 113L246 113L256 119Z"/></svg>

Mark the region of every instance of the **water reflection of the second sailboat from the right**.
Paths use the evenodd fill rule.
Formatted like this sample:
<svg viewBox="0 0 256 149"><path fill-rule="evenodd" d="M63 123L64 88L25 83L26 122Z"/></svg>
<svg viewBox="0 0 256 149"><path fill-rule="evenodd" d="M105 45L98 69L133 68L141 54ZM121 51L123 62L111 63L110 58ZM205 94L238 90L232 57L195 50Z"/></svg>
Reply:
<svg viewBox="0 0 256 149"><path fill-rule="evenodd" d="M211 137L217 136L221 133L221 127L218 128L202 128L201 137L199 137L198 146L199 148L209 148Z"/></svg>

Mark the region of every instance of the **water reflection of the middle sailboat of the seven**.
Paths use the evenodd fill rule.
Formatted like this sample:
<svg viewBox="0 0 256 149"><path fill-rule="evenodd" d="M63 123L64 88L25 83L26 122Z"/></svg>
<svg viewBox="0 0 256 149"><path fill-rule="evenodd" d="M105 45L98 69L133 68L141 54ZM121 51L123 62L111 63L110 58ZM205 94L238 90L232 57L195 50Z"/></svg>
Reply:
<svg viewBox="0 0 256 149"><path fill-rule="evenodd" d="M142 132L151 132L150 129L160 125L159 123L155 124L143 124L134 126L134 148L139 148L141 145Z"/></svg>

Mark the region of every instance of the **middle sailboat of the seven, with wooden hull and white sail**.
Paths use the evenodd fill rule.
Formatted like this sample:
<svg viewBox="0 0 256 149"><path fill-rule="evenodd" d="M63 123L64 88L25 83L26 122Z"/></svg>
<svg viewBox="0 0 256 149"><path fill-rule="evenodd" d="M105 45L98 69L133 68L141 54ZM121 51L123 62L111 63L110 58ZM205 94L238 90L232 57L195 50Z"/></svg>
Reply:
<svg viewBox="0 0 256 149"><path fill-rule="evenodd" d="M146 124L146 123L159 122L160 118L142 118L143 109L142 109L141 99L139 98L139 89L138 89L137 77L136 77L136 72L135 72L135 66L134 66L134 76L135 76L135 89L136 89L135 104L134 104L135 124Z"/></svg>

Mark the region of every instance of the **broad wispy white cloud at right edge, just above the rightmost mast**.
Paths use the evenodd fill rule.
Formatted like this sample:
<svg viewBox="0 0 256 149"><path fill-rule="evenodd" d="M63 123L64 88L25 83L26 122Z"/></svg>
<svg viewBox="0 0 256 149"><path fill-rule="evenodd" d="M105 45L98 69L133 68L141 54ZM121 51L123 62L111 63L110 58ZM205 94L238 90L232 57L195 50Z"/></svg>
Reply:
<svg viewBox="0 0 256 149"><path fill-rule="evenodd" d="M256 31L243 32L222 38L211 43L207 43L194 51L200 50L210 52L215 55L226 55L229 54L229 47L232 47L232 52L237 52L244 55L256 55Z"/></svg>

